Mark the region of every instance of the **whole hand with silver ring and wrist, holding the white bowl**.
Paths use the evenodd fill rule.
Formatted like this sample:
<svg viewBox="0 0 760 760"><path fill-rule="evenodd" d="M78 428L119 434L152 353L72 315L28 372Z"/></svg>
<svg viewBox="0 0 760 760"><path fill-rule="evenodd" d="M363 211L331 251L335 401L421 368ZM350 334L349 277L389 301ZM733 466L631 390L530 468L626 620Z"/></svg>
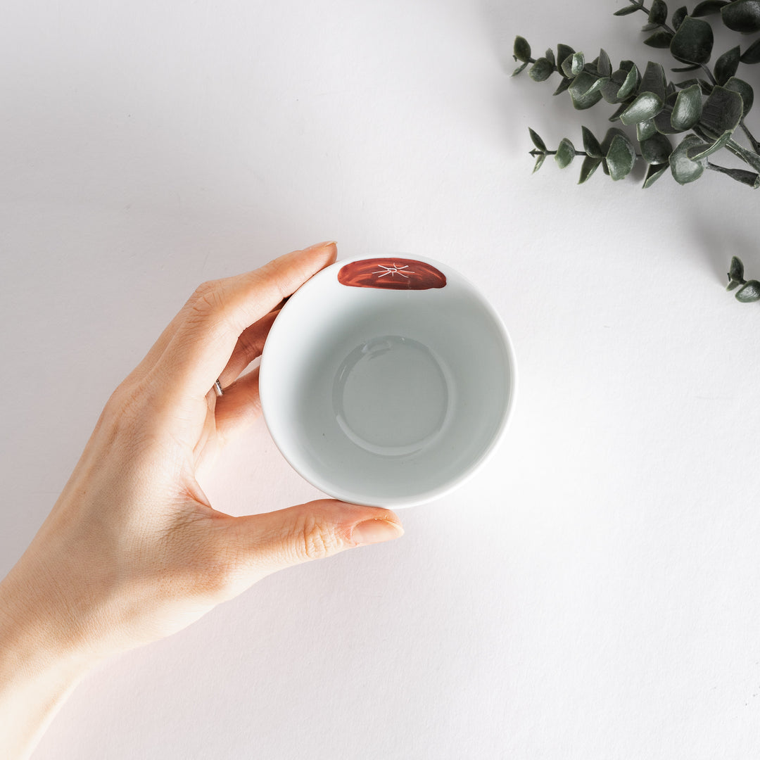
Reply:
<svg viewBox="0 0 760 760"><path fill-rule="evenodd" d="M15 744L3 742L2 725L0 755L29 746L35 722L90 663L179 631L281 568L403 534L393 512L333 499L231 517L198 486L198 471L258 416L258 368L241 373L261 354L277 306L336 255L322 243L204 283L112 394L0 583L0 715L9 686L18 714L8 724ZM42 689L46 707L32 707L30 725L17 695L32 682L38 698L40 685L57 686Z"/></svg>

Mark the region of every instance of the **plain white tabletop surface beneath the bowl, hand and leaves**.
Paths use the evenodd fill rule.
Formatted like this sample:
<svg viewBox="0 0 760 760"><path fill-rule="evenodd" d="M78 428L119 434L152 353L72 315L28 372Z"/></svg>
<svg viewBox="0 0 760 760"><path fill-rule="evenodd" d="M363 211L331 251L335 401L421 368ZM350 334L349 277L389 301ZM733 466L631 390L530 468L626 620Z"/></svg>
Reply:
<svg viewBox="0 0 760 760"><path fill-rule="evenodd" d="M579 146L612 109L508 75L517 33L667 62L622 5L5 2L0 572L202 280L322 239L439 258L521 380L499 453L401 540L106 663L37 760L758 756L760 305L724 273L760 277L760 195L531 176L529 125ZM318 496L263 423L204 486Z"/></svg>

